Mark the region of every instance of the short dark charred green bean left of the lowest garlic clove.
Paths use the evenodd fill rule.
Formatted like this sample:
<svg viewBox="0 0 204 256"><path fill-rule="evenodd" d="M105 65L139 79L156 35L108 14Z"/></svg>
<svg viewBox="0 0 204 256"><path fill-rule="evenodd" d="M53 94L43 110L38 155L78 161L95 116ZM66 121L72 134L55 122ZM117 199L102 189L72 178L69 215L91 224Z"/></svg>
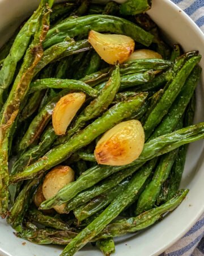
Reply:
<svg viewBox="0 0 204 256"><path fill-rule="evenodd" d="M32 196L35 192L35 189L39 185L39 179L33 179L27 181L24 185L22 191L20 191L18 197L15 200L14 205L10 209L10 213L7 217L8 224L11 224L12 227L17 230L22 230L22 221L25 216L25 213L28 210L29 204L32 202Z"/></svg>

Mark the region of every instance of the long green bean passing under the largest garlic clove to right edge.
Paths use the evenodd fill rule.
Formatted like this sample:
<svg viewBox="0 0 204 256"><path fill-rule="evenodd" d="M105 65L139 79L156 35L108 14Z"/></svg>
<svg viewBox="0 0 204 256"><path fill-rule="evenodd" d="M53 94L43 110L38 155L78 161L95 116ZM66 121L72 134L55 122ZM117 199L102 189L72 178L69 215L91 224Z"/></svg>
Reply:
<svg viewBox="0 0 204 256"><path fill-rule="evenodd" d="M126 166L94 166L83 173L78 180L73 183L63 187L53 199L45 201L42 203L42 209L52 208L53 205L60 205L71 200L76 194L84 189L91 187L92 185L103 180L105 177L114 174L120 170L126 169L131 166L138 166L138 168L155 158L156 156L168 153L184 144L197 141L204 138L204 123L198 123L197 125L192 125L185 127L183 129L174 131L173 133L165 134L161 137L152 139L152 141L145 143L142 154L139 158L133 161L131 164ZM11 177L11 182L14 178Z"/></svg>

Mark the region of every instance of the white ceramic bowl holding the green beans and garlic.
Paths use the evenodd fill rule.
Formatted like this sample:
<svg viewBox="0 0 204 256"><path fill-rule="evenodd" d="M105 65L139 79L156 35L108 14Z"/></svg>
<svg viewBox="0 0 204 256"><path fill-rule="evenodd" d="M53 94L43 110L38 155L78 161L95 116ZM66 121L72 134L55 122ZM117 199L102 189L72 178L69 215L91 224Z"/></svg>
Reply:
<svg viewBox="0 0 204 256"><path fill-rule="evenodd" d="M121 1L118 1L121 2ZM5 42L14 28L36 8L39 0L0 0L0 45ZM201 67L204 68L204 35L192 20L169 0L154 0L152 9L148 12L152 19L162 28L165 35L173 43L180 43L185 51L199 50L203 56ZM197 89L197 111L194 122L203 121L204 102L203 85ZM182 177L182 188L189 188L186 199L163 221L135 236L126 236L116 242L117 256L150 256L159 255L179 238L181 238L204 212L204 162L203 141L193 143L189 147ZM2 256L56 256L61 253L60 246L35 245L16 238L12 228L5 221L0 221L0 254ZM92 246L84 247L77 255L101 255Z"/></svg>

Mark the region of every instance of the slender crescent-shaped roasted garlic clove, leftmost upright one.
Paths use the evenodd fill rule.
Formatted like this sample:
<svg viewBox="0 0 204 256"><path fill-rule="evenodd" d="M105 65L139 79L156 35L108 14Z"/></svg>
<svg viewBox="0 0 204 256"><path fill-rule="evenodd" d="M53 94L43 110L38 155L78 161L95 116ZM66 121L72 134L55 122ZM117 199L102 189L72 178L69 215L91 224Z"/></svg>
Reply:
<svg viewBox="0 0 204 256"><path fill-rule="evenodd" d="M85 98L85 93L69 93L57 102L52 114L53 128L57 135L66 133L67 127L84 103Z"/></svg>

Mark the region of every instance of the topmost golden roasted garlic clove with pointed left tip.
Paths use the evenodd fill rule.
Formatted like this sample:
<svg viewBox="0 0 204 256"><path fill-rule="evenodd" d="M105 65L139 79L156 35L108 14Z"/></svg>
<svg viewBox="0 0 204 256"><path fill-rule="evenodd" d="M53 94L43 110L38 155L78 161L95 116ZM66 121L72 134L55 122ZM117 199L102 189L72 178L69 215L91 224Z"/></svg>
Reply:
<svg viewBox="0 0 204 256"><path fill-rule="evenodd" d="M88 42L101 59L109 64L123 63L134 51L134 40L125 35L100 34L94 30L88 35Z"/></svg>

